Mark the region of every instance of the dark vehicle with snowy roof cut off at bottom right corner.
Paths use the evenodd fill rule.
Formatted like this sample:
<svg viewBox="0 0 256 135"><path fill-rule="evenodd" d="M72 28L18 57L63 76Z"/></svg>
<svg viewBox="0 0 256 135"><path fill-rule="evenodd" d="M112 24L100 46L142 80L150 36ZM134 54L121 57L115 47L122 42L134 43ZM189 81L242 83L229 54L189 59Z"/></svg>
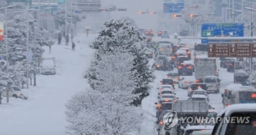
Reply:
<svg viewBox="0 0 256 135"><path fill-rule="evenodd" d="M217 117L211 134L255 134L256 104L233 104L219 112ZM239 118L227 123L227 118L232 117ZM241 123L241 119L244 119L244 123Z"/></svg>

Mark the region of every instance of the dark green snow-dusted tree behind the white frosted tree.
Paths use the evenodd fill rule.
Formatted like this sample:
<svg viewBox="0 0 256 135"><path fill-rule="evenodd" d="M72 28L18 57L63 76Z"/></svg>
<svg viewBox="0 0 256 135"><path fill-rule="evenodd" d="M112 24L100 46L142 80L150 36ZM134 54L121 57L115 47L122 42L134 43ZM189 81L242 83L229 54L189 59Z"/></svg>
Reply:
<svg viewBox="0 0 256 135"><path fill-rule="evenodd" d="M91 68L87 71L86 78L92 88L95 88L94 80L96 77L97 62L101 61L102 55L111 53L117 48L128 50L129 53L135 55L134 69L138 70L137 87L132 93L140 94L140 98L133 101L133 104L141 104L143 98L149 95L148 89L151 88L149 82L154 81L153 70L148 68L148 58L146 57L144 48L138 44L142 42L143 37L135 31L133 26L127 20L110 20L105 23L105 28L99 32L99 36L94 40L92 48L97 49L95 55L97 61L91 64Z"/></svg>

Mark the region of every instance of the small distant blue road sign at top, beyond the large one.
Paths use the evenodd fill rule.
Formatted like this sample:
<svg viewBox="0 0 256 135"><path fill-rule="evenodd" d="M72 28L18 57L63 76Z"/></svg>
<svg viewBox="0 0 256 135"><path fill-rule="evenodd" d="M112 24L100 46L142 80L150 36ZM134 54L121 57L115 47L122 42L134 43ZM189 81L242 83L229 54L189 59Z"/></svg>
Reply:
<svg viewBox="0 0 256 135"><path fill-rule="evenodd" d="M164 3L164 12L181 12L184 9L184 3Z"/></svg>

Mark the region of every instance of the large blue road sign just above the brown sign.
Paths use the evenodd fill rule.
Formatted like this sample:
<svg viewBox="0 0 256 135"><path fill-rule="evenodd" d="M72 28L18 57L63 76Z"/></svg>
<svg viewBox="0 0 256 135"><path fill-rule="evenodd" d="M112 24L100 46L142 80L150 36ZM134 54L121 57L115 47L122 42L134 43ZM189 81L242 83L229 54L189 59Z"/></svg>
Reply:
<svg viewBox="0 0 256 135"><path fill-rule="evenodd" d="M201 26L202 37L230 36L230 33L232 33L233 36L244 36L244 23L203 23ZM208 41L208 39L201 40L202 44L208 44L208 42L218 41Z"/></svg>

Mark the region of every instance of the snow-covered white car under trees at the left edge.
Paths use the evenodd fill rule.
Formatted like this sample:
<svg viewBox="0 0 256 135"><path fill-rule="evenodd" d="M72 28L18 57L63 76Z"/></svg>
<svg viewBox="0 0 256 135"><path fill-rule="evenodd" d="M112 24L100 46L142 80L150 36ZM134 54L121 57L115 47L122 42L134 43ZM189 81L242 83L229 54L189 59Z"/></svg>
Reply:
<svg viewBox="0 0 256 135"><path fill-rule="evenodd" d="M1 93L1 96L7 97L7 92L4 91L3 93ZM12 87L9 90L9 97L28 99L28 94L18 87Z"/></svg>

